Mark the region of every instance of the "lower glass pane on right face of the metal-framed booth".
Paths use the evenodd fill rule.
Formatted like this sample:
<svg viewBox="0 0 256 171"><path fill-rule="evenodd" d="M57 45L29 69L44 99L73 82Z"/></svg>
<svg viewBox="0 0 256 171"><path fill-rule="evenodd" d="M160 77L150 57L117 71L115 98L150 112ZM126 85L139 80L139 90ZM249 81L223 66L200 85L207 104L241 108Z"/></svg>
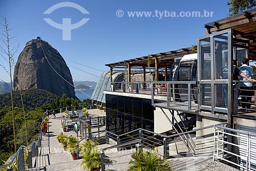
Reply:
<svg viewBox="0 0 256 171"><path fill-rule="evenodd" d="M216 84L216 107L227 108L227 95L228 87L227 84Z"/></svg>

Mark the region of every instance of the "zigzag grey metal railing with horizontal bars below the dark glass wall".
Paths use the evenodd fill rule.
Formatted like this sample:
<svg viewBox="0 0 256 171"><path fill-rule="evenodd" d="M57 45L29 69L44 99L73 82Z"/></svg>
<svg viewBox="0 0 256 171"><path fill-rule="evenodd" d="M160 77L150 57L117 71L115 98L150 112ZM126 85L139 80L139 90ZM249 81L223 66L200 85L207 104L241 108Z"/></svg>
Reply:
<svg viewBox="0 0 256 171"><path fill-rule="evenodd" d="M136 129L122 135L116 135L106 131L106 143L119 145L135 139L141 139L141 144L143 147L158 148L158 153L166 158L169 156L179 155L179 153L192 154L193 156L213 155L214 128L216 125L224 124L226 124L226 122L205 126L200 129L195 129L184 133L176 133L173 135L162 135L144 129ZM200 135L201 133L199 132L202 130L207 130L205 131L207 132L207 135L197 136L197 133ZM193 136L186 138L188 134ZM194 140L193 142L192 139ZM120 149L118 148L118 151L119 150Z"/></svg>

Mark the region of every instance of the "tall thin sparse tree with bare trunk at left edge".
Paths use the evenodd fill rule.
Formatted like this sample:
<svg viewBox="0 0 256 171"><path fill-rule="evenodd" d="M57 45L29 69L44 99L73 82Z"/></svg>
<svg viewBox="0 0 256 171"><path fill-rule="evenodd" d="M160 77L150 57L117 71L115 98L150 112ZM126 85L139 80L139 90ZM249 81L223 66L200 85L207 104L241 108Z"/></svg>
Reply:
<svg viewBox="0 0 256 171"><path fill-rule="evenodd" d="M14 55L16 54L19 45L17 46L17 48L15 47L11 47L11 40L14 38L10 35L10 31L11 29L9 28L8 25L8 19L6 16L3 17L3 29L2 29L2 34L1 34L1 40L3 41L4 45L0 45L0 52L1 52L1 56L3 57L3 59L5 59L8 64L9 64L9 69L7 69L4 65L0 64L5 71L9 74L10 76L10 82L11 82L11 102L12 102L12 124L13 124L13 137L14 137L14 151L16 152L16 138L15 138L15 124L14 124L14 112L13 112L13 91L12 91L12 69L14 67Z"/></svg>

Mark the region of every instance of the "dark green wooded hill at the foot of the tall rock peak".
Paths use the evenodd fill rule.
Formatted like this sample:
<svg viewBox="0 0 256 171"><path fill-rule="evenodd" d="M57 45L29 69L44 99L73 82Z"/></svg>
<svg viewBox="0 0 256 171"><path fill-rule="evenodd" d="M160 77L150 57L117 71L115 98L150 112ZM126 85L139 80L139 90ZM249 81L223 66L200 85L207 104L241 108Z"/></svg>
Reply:
<svg viewBox="0 0 256 171"><path fill-rule="evenodd" d="M42 106L43 104L51 103L57 95L52 94L46 90L40 89L28 89L22 90L24 107L28 110L34 110L35 108ZM20 92L13 92L14 106L22 108L22 100L20 98ZM5 93L0 95L0 109L5 106L11 106L11 94Z"/></svg>

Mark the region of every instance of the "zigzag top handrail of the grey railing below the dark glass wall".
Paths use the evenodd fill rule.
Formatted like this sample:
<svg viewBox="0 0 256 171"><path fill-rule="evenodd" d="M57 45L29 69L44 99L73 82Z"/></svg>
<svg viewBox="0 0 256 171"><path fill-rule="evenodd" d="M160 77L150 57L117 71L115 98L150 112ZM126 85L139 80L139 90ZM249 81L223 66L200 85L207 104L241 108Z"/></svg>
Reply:
<svg viewBox="0 0 256 171"><path fill-rule="evenodd" d="M222 122L222 123L218 123L218 124L213 124L213 125L209 125L209 126L205 126L205 127L200 127L199 129L196 129L196 130L191 130L191 131L187 131L187 132L184 132L184 133L178 133L178 134L168 135L168 136L162 135L162 134L159 134L159 133L155 133L155 132L151 132L151 131L148 131L148 130L144 130L144 129L141 129L141 128L136 129L136 130L133 130L133 131L130 131L130 132L127 132L127 133L124 133L124 134L121 134L121 135L116 135L116 134L111 133L111 132L109 132L109 131L106 131L106 133L110 133L110 134L115 135L115 136L117 136L117 137L121 137L121 136L124 136L124 135L126 135L126 134L130 134L130 133L133 133L133 132L136 132L136 131L140 131L140 130L141 130L141 131L145 131L145 132L147 132L147 133L152 133L152 134L154 134L154 135L159 135L159 136L162 136L162 137L165 137L165 138L170 138L170 137L175 137L175 136L178 136L178 135L184 135L184 134L193 133L193 132L196 132L196 131L208 129L208 128L210 128L210 127L215 127L215 126L217 126L217 125L226 124L226 123L227 123L227 122ZM226 127L225 127L225 128L226 128Z"/></svg>

